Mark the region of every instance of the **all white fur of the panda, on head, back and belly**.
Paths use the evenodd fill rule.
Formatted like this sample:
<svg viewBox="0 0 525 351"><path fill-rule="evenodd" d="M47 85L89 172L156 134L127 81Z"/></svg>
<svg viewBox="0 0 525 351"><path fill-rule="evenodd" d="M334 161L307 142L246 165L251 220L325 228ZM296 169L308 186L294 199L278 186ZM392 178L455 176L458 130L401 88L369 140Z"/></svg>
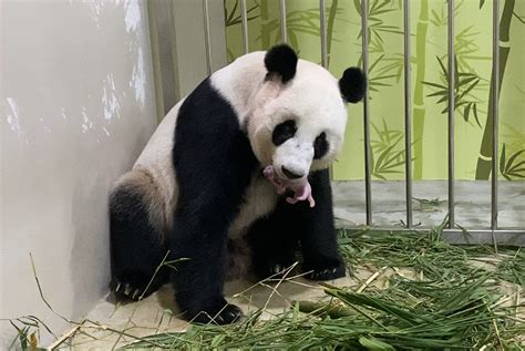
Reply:
<svg viewBox="0 0 525 351"><path fill-rule="evenodd" d="M305 175L326 168L341 148L347 122L337 80L323 68L299 60L297 74L287 84L275 79L265 81L265 54L254 52L237 59L212 75L212 85L234 107L261 167L272 164L280 172L280 167L286 166ZM183 101L162 121L133 167L135 172L146 172L157 185L152 197L158 202L150 206L151 218L164 218L164 228L172 225L178 194L172 152ZM276 147L271 133L277 124L290 118L296 120L298 131L295 137ZM322 132L327 134L330 148L323 158L315 161L313 141ZM276 206L275 189L259 171L254 174L239 214L229 228L230 237L243 235L254 220ZM146 177L141 182L146 182Z"/></svg>

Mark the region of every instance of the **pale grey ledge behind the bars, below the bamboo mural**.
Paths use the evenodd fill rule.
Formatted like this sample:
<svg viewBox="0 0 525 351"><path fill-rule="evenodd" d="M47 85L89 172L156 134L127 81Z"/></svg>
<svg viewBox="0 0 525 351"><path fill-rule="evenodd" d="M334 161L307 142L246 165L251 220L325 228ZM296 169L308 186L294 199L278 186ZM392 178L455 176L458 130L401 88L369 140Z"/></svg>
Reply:
<svg viewBox="0 0 525 351"><path fill-rule="evenodd" d="M333 206L339 227L366 223L364 182L334 182ZM445 180L414 182L413 224L434 227L449 213ZM455 223L466 229L491 228L491 182L455 182ZM498 182L500 228L525 228L525 182ZM406 221L405 184L402 180L372 182L372 220L378 227Z"/></svg>

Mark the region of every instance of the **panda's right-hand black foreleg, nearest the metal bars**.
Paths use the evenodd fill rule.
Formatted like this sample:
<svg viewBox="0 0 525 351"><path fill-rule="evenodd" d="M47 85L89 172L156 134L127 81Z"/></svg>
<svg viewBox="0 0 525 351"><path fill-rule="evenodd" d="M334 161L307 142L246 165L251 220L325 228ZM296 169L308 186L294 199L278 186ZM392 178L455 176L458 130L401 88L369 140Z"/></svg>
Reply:
<svg viewBox="0 0 525 351"><path fill-rule="evenodd" d="M290 205L292 220L298 230L302 251L302 270L306 278L331 280L344 277L344 261L337 242L333 223L332 193L328 169L311 174L309 182L316 206L310 208L307 202Z"/></svg>

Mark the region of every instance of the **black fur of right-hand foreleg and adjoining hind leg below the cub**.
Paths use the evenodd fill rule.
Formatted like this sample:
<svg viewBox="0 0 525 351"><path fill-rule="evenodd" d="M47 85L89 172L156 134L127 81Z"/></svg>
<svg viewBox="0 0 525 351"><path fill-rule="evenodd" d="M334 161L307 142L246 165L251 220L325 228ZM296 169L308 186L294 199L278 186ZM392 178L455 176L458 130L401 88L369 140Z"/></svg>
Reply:
<svg viewBox="0 0 525 351"><path fill-rule="evenodd" d="M297 259L300 245L302 270L308 279L331 280L344 277L333 226L332 195L328 169L309 177L316 206L308 202L290 205L282 198L268 218L259 219L249 233L254 268L259 278L267 278L289 267Z"/></svg>

